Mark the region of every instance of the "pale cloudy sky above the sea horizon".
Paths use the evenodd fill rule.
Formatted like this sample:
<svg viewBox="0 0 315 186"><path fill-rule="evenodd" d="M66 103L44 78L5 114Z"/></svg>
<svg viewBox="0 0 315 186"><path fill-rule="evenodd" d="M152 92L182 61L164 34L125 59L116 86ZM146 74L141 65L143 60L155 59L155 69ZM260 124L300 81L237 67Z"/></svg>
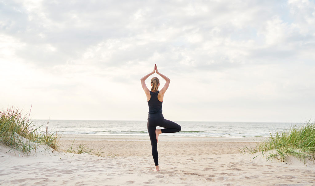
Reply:
<svg viewBox="0 0 315 186"><path fill-rule="evenodd" d="M2 0L0 109L146 120L140 78L157 64L166 119L305 122L314 51L310 0Z"/></svg>

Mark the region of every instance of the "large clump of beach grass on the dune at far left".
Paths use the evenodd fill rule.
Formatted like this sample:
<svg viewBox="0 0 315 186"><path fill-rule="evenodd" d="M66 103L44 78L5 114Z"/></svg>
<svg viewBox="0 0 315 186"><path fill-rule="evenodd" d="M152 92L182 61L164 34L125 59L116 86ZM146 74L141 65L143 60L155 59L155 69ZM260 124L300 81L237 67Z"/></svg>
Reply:
<svg viewBox="0 0 315 186"><path fill-rule="evenodd" d="M30 113L23 114L22 110L8 108L0 110L0 143L17 149L23 153L36 150L37 145L46 144L54 150L58 150L58 142L61 134L58 131L49 131L46 128L34 125L30 120Z"/></svg>

